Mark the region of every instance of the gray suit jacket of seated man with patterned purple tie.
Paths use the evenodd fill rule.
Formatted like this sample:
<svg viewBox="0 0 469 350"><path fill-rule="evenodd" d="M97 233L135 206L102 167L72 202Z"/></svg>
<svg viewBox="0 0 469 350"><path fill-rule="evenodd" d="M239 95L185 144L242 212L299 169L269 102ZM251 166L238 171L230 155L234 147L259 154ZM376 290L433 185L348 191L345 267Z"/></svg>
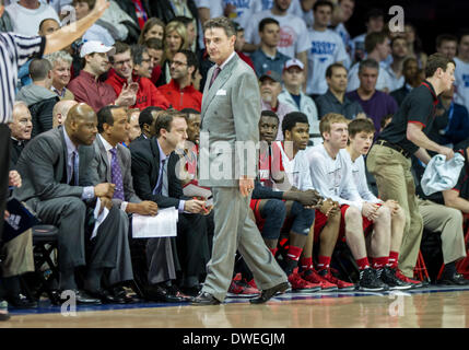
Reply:
<svg viewBox="0 0 469 350"><path fill-rule="evenodd" d="M103 183L112 183L110 176L110 164L107 158L106 149L104 148L103 142L99 137L96 137L96 140L93 143L94 148L94 158L90 166L90 179L94 185ZM117 144L117 160L120 164L120 170L122 172L122 183L124 183L124 198L126 201L132 203L141 202L141 199L136 195L133 190L133 179L131 173L131 158L130 151L121 144ZM120 207L121 200L114 198L113 202Z"/></svg>

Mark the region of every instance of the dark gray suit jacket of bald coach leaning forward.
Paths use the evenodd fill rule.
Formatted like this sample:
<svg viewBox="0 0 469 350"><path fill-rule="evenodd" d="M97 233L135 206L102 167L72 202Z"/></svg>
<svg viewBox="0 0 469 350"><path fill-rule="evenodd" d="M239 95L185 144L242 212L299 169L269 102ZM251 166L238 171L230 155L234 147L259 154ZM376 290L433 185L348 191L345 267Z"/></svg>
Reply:
<svg viewBox="0 0 469 350"><path fill-rule="evenodd" d="M14 189L14 196L26 201L33 210L37 202L61 197L81 198L83 186L90 182L90 163L93 159L91 145L80 145L80 186L67 184L67 144L61 127L43 132L24 148L16 163L22 186Z"/></svg>

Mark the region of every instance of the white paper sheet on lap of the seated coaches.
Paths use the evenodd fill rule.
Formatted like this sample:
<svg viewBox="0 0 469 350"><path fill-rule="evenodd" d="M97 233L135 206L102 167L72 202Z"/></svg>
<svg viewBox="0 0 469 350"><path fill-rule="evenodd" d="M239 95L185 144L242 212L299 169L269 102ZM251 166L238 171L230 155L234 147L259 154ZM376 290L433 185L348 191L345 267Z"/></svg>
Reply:
<svg viewBox="0 0 469 350"><path fill-rule="evenodd" d="M174 237L177 235L176 208L160 209L155 217L132 215L133 238Z"/></svg>

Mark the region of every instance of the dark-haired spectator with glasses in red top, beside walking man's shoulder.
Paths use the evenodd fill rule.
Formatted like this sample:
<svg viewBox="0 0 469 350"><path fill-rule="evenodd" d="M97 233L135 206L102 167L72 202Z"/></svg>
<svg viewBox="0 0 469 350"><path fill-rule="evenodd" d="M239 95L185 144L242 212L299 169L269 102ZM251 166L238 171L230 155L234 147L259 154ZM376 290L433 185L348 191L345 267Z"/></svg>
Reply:
<svg viewBox="0 0 469 350"><path fill-rule="evenodd" d="M177 51L169 66L171 81L160 86L160 91L171 102L173 108L201 110L202 94L192 85L197 72L197 58L190 50Z"/></svg>

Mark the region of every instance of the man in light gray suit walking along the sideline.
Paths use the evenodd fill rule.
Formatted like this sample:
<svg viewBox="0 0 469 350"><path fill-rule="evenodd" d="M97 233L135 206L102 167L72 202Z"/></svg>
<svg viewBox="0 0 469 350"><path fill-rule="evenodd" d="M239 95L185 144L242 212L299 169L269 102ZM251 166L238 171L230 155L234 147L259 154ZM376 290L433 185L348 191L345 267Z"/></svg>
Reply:
<svg viewBox="0 0 469 350"><path fill-rule="evenodd" d="M212 187L215 231L209 273L194 304L215 305L225 299L236 249L262 290L250 302L263 303L286 291L289 282L248 215L259 141L259 86L254 70L234 51L236 34L230 20L212 19L203 32L215 65L209 70L202 98L199 185ZM239 145L250 145L247 158L244 150L237 151Z"/></svg>

